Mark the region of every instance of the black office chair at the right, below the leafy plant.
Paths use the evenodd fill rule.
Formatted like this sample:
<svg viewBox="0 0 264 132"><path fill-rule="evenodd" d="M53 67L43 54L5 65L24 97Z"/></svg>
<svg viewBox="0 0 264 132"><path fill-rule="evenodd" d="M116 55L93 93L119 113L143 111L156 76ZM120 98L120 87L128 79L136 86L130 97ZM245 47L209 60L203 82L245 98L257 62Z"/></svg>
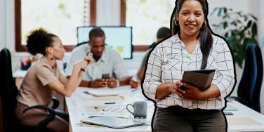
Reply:
<svg viewBox="0 0 264 132"><path fill-rule="evenodd" d="M245 64L235 98L251 109L260 112L260 89L263 81L263 60L258 45L246 46Z"/></svg>

